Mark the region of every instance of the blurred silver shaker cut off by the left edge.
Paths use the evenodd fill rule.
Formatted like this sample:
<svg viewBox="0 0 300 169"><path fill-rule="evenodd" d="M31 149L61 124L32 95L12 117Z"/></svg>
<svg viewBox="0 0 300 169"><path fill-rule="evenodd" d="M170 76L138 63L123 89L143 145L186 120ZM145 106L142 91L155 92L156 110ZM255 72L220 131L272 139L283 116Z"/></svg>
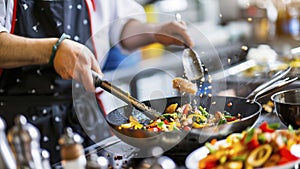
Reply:
<svg viewBox="0 0 300 169"><path fill-rule="evenodd" d="M15 169L16 160L7 142L5 128L6 124L0 117L0 168Z"/></svg>

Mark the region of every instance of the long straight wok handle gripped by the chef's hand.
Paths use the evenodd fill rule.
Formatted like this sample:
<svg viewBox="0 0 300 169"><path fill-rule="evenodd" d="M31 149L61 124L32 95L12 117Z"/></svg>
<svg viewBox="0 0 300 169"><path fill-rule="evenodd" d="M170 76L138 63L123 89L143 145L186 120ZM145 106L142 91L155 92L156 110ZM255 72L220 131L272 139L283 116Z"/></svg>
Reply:
<svg viewBox="0 0 300 169"><path fill-rule="evenodd" d="M109 92L113 96L123 100L127 104L131 104L136 109L142 111L144 115L150 119L155 119L160 116L160 113L151 107L148 107L144 103L139 102L137 99L132 97L128 92L123 91L122 89L114 86L110 82L103 80L95 71L92 70L92 77L95 87L101 87L103 90Z"/></svg>

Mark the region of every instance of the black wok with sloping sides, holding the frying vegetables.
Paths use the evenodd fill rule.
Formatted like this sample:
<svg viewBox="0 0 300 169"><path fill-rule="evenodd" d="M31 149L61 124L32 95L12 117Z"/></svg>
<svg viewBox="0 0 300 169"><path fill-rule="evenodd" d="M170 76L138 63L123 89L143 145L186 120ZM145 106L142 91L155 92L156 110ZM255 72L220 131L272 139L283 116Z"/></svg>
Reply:
<svg viewBox="0 0 300 169"><path fill-rule="evenodd" d="M190 102L190 98L184 96L149 100L144 103L163 112L172 103L183 105ZM228 103L231 103L232 106L227 106ZM258 102L249 102L245 98L238 97L197 97L196 105L205 107L209 113L225 110L234 116L240 114L242 119L230 124L192 129L191 131L151 132L147 130L120 129L119 126L128 122L128 118L132 115L132 112L138 113L138 110L127 105L110 112L106 116L106 120L113 128L115 135L122 141L141 148L144 152L148 152L151 147L155 146L160 146L163 150L168 150L179 143L189 133L200 135L204 142L211 137L220 138L230 133L241 132L247 127L253 126L261 112L261 105Z"/></svg>

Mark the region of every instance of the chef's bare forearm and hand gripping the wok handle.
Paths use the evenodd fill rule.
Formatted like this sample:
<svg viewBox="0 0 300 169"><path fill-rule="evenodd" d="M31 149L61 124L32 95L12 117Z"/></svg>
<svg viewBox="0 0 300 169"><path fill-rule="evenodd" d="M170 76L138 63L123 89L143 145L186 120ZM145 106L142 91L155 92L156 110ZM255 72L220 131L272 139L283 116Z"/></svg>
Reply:
<svg viewBox="0 0 300 169"><path fill-rule="evenodd" d="M58 38L25 38L0 33L0 68L16 68L49 63ZM98 61L84 45L65 39L56 51L53 67L63 79L81 81L88 91L95 91L91 70L102 75Z"/></svg>

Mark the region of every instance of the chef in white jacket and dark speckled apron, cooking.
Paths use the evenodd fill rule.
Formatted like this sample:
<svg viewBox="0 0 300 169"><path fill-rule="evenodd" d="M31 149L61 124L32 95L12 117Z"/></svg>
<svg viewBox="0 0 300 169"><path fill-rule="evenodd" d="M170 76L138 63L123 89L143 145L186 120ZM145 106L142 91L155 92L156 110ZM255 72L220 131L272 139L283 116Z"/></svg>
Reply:
<svg viewBox="0 0 300 169"><path fill-rule="evenodd" d="M95 92L91 70L103 76L110 47L128 53L155 42L192 46L183 22L146 24L133 0L0 0L0 116L10 128L25 115L57 162L65 127L92 143L72 88Z"/></svg>

